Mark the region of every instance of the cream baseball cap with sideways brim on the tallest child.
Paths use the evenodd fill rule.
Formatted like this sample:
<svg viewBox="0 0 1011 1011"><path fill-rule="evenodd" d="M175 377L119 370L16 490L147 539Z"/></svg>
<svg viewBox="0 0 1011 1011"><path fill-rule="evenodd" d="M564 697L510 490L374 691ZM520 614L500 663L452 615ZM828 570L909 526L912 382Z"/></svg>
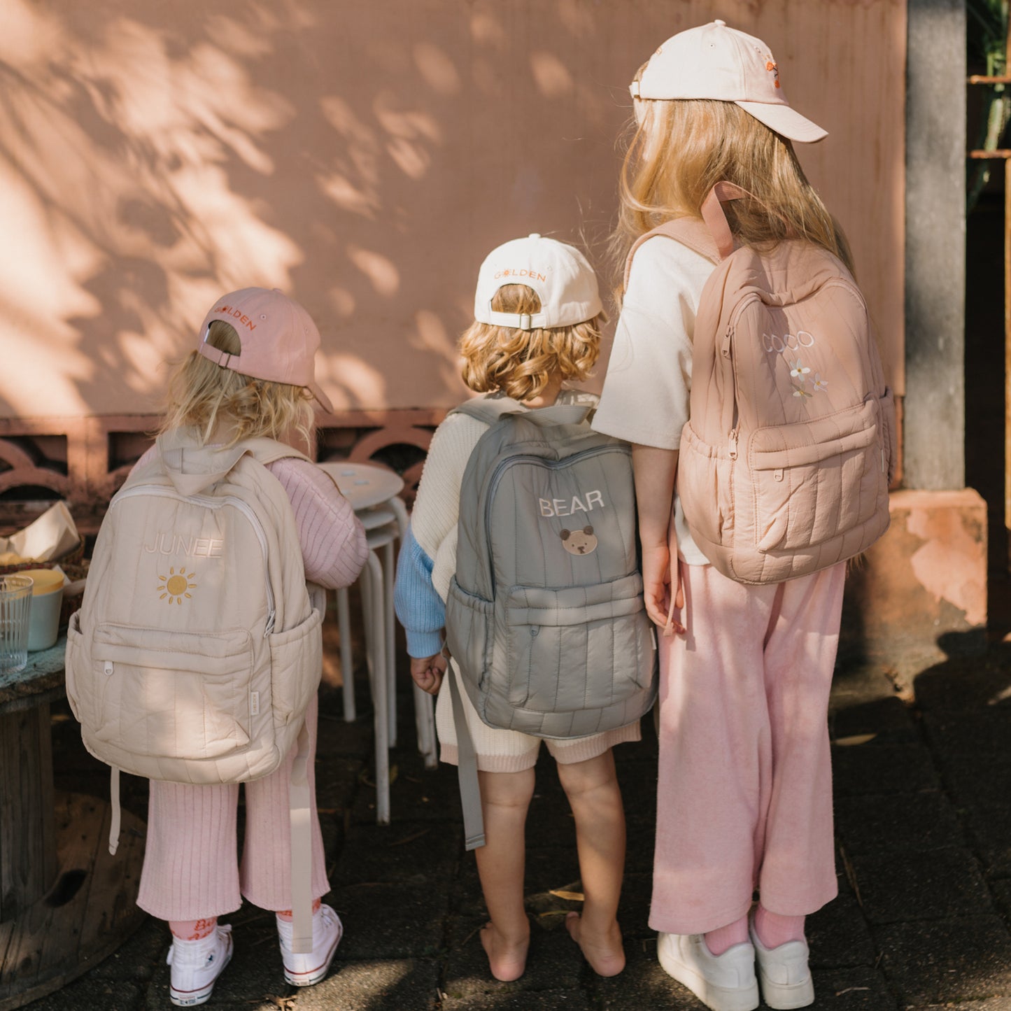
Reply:
<svg viewBox="0 0 1011 1011"><path fill-rule="evenodd" d="M791 141L820 141L828 135L790 107L768 47L760 38L727 27L726 21L688 28L668 38L649 58L630 90L634 98L733 102Z"/></svg>

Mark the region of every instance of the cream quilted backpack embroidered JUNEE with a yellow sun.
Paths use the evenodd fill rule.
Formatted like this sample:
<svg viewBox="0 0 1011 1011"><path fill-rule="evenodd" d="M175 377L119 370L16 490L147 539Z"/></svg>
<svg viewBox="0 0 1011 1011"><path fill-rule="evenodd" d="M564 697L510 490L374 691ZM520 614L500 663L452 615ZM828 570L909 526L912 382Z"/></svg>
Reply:
<svg viewBox="0 0 1011 1011"><path fill-rule="evenodd" d="M109 504L66 669L85 747L113 769L113 852L118 770L245 783L297 744L298 920L311 898L304 715L319 683L325 605L310 601L291 503L265 467L284 456L301 454L269 439L212 449L188 430L161 436ZM296 923L299 943L304 928Z"/></svg>

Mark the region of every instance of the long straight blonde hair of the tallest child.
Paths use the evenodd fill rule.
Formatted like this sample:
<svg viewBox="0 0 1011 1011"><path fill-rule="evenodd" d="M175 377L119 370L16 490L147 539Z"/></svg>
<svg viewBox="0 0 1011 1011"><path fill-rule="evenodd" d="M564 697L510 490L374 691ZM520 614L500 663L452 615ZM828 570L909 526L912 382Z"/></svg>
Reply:
<svg viewBox="0 0 1011 1011"><path fill-rule="evenodd" d="M645 66L645 65L643 65ZM636 75L638 80L639 74ZM612 253L624 266L640 236L676 217L702 217L718 182L750 196L723 205L734 236L761 248L803 238L853 271L849 244L808 182L794 147L733 102L635 99L636 128L620 180L621 209Z"/></svg>

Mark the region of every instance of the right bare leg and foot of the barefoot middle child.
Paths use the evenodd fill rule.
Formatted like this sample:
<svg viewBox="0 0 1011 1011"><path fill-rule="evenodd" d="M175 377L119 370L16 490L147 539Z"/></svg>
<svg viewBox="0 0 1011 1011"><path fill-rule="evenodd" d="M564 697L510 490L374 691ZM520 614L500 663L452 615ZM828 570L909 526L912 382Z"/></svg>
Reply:
<svg viewBox="0 0 1011 1011"><path fill-rule="evenodd" d="M618 900L625 872L625 811L609 749L596 758L559 764L558 777L575 818L576 847L584 901L582 916L565 921L572 939L599 976L625 968Z"/></svg>

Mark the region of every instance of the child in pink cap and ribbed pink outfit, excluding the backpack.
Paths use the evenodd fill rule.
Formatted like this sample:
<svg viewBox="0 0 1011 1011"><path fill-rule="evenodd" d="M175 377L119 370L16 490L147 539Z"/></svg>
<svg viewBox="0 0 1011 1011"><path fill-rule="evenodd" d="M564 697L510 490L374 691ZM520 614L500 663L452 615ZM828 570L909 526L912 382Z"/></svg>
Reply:
<svg viewBox="0 0 1011 1011"><path fill-rule="evenodd" d="M308 312L277 289L244 288L218 298L200 329L197 347L173 373L163 435L192 433L195 444L232 447L257 438L308 441L312 401L332 410L313 376L319 332ZM156 461L153 447L142 468ZM308 460L282 456L267 464L291 502L305 578L327 587L350 585L365 564L365 533L333 480ZM241 591L241 590L237 590ZM189 595L188 593L186 594ZM293 986L317 983L330 968L342 926L320 902L330 891L315 809L313 758L316 703L305 712L311 813L312 951L292 950L289 778L294 748L271 774L245 784L246 836L236 855L239 785L194 786L152 780L148 838L137 905L172 931L169 997L203 1004L233 951L231 924L217 917L243 897L277 913L283 971Z"/></svg>

